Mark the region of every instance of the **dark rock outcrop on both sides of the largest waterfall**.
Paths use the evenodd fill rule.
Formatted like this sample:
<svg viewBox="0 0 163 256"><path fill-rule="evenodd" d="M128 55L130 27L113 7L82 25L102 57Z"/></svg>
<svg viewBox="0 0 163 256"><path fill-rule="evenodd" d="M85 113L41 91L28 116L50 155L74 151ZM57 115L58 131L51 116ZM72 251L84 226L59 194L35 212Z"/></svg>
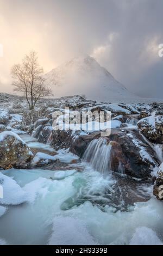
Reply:
<svg viewBox="0 0 163 256"><path fill-rule="evenodd" d="M89 143L100 137L100 132L79 136L72 140L70 150L82 157ZM104 138L112 146L111 170L119 172L121 168L125 174L136 178L152 178L159 163L155 151L142 138L139 131L112 129L111 135Z"/></svg>

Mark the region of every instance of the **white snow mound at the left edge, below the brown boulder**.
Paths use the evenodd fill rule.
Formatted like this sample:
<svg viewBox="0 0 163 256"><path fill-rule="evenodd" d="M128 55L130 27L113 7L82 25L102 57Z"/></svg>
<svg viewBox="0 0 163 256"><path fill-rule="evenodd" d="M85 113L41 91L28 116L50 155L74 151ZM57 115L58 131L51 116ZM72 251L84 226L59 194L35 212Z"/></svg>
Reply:
<svg viewBox="0 0 163 256"><path fill-rule="evenodd" d="M28 193L24 192L15 180L1 172L0 184L3 187L3 198L0 198L0 204L18 205L28 201Z"/></svg>

